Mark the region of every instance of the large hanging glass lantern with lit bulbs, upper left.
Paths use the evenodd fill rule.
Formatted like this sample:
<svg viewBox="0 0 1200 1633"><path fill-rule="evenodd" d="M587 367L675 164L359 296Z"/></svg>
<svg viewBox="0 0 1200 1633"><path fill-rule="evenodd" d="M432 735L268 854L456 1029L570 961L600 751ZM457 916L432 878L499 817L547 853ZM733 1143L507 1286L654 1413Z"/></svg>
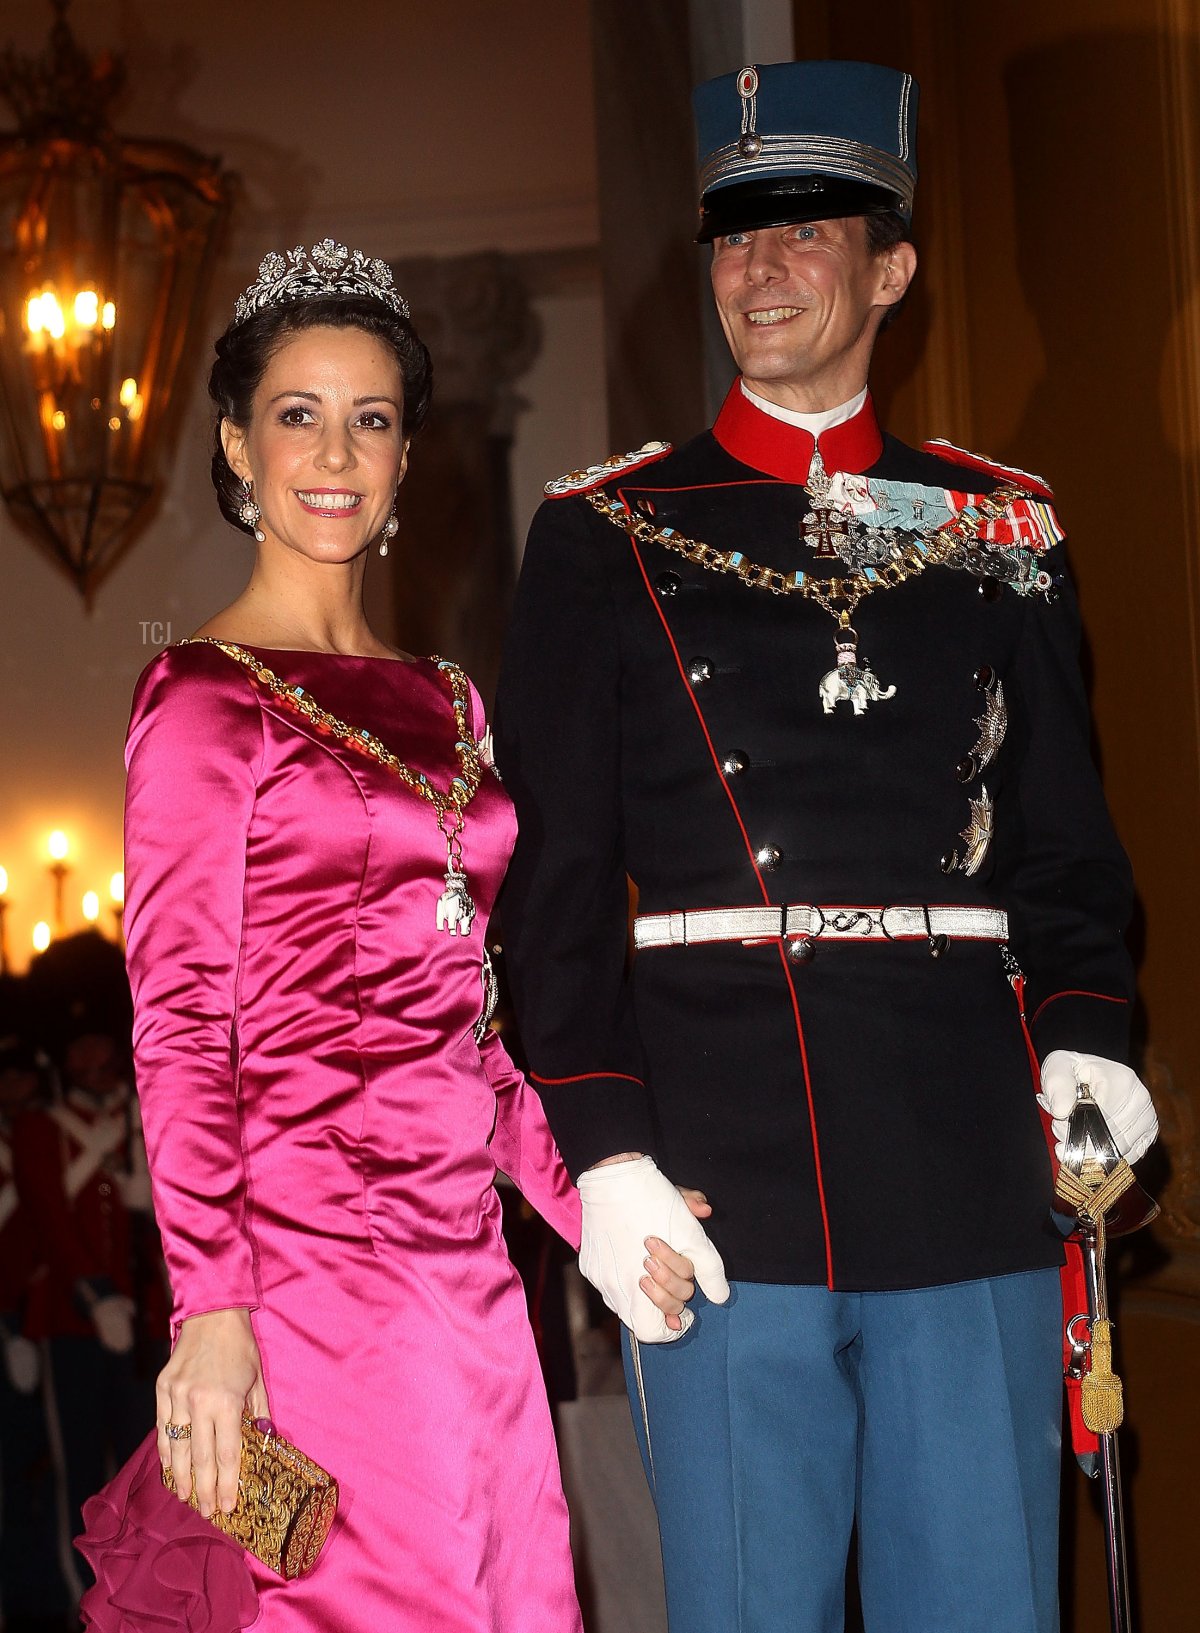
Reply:
<svg viewBox="0 0 1200 1633"><path fill-rule="evenodd" d="M0 56L0 495L91 604L150 514L232 178L116 136L124 67L51 3L44 56Z"/></svg>

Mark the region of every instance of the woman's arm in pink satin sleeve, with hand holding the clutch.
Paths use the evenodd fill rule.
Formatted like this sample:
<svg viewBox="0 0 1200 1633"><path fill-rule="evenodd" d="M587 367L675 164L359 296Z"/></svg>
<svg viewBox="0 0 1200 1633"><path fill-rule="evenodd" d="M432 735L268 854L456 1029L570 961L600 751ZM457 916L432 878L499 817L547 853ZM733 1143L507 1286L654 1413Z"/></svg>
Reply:
<svg viewBox="0 0 1200 1633"><path fill-rule="evenodd" d="M176 1344L158 1450L202 1512L237 1499L243 1404L266 1414L237 1104L247 843L263 759L250 681L207 647L144 673L126 743L126 939L134 1063ZM189 1439L167 1439L167 1424Z"/></svg>

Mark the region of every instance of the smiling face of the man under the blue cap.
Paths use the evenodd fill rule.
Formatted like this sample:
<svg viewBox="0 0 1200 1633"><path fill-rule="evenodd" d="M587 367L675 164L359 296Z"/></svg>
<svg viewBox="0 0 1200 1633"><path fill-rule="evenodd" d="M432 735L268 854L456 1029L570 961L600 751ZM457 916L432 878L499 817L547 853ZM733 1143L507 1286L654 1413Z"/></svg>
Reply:
<svg viewBox="0 0 1200 1633"><path fill-rule="evenodd" d="M867 384L878 327L914 269L911 243L875 256L865 220L851 216L717 238L712 289L751 390L820 412Z"/></svg>

